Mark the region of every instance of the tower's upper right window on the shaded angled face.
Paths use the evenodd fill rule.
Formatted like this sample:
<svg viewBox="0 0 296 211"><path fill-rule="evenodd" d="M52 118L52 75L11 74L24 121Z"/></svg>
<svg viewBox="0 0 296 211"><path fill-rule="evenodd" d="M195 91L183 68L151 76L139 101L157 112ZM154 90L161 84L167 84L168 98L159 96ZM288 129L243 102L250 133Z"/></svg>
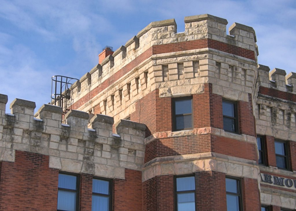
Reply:
<svg viewBox="0 0 296 211"><path fill-rule="evenodd" d="M237 133L237 103L223 100L223 129L228 132Z"/></svg>

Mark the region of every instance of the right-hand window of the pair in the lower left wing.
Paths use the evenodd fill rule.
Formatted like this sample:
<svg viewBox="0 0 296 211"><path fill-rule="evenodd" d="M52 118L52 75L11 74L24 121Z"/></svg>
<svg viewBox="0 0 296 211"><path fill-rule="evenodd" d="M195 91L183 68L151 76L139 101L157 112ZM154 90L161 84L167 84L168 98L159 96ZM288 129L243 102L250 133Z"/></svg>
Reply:
<svg viewBox="0 0 296 211"><path fill-rule="evenodd" d="M111 193L111 180L94 178L91 211L110 211Z"/></svg>

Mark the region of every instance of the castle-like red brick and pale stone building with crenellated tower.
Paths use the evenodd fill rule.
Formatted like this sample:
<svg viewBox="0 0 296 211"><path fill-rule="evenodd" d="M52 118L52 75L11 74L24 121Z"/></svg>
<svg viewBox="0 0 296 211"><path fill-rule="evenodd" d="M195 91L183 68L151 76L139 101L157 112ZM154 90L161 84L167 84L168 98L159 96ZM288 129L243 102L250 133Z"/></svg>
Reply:
<svg viewBox="0 0 296 211"><path fill-rule="evenodd" d="M296 209L296 74L252 27L184 21L104 49L65 115L0 95L0 210Z"/></svg>

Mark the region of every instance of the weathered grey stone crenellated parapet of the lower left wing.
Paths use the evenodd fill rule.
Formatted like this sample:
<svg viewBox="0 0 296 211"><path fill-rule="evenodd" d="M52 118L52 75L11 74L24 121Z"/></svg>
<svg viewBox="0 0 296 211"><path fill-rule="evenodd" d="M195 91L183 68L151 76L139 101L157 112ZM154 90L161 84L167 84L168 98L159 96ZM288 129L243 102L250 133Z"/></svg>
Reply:
<svg viewBox="0 0 296 211"><path fill-rule="evenodd" d="M0 94L0 161L14 162L15 151L49 155L49 167L74 173L124 178L125 168L140 170L144 162L146 125L71 110L62 124L62 108L15 99L5 113L7 95ZM34 117L35 116L35 117Z"/></svg>

